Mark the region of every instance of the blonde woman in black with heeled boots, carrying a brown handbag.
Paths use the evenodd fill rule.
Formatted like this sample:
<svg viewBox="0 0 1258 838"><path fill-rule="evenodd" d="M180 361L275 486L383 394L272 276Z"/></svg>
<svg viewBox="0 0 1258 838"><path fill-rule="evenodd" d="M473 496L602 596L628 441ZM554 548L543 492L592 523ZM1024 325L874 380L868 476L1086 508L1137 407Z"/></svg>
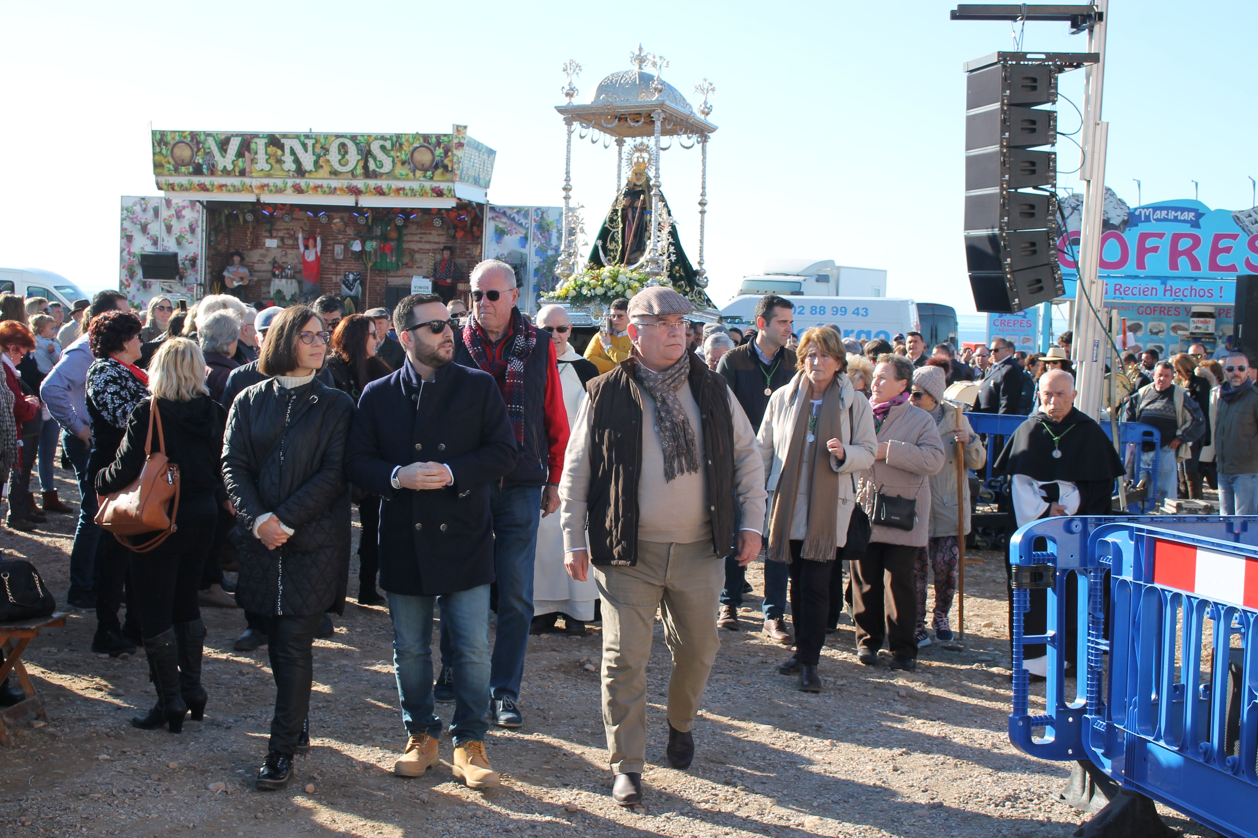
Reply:
<svg viewBox="0 0 1258 838"><path fill-rule="evenodd" d="M177 529L148 552L142 550L151 536L135 539L131 583L157 704L131 724L145 730L165 725L177 734L185 714L191 711L192 721L200 721L205 712L201 687L205 623L196 593L218 510L221 506L231 511L219 470L226 411L210 398L205 357L187 338L162 342L148 364L148 389L152 395L131 411L113 462L97 474L96 490L103 496L125 489L140 476L147 459L150 420L160 422L161 435L155 427L151 447L179 466L179 511L174 521Z"/></svg>

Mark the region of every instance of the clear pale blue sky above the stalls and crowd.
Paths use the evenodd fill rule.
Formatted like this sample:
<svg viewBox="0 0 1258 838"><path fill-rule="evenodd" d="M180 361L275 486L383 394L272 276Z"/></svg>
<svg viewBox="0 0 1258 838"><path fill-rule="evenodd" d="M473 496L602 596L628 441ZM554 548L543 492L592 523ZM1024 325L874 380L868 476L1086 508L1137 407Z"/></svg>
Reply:
<svg viewBox="0 0 1258 838"><path fill-rule="evenodd" d="M155 193L148 123L249 131L448 131L498 151L491 201L560 204L560 65L580 98L642 41L696 101L717 85L708 268L727 298L766 256L886 268L889 293L972 312L961 250L962 62L1011 49L1003 23L951 23L954 3L0 4L0 264L117 281L118 196ZM1108 185L1130 204L1250 205L1258 177L1258 3L1115 0L1105 117ZM1086 48L1030 24L1028 50ZM1076 95L1082 73L1063 82ZM1062 106L1062 127L1078 121ZM1060 170L1077 166L1063 143ZM574 152L587 229L615 158ZM694 256L697 151L664 192ZM1060 186L1079 187L1073 176Z"/></svg>

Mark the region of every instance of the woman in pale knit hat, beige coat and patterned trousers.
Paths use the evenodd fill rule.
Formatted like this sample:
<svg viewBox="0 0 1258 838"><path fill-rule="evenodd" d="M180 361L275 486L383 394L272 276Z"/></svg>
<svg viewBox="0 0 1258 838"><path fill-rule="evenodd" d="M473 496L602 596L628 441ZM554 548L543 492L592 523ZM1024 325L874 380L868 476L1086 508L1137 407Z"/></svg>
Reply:
<svg viewBox="0 0 1258 838"><path fill-rule="evenodd" d="M970 531L970 481L961 484L961 504L956 496L956 443L964 446L966 469L979 469L988 461L988 450L970 427L965 413L945 407L945 383L947 374L942 368L927 362L913 373L913 403L935 418L935 428L944 441L946 459L944 467L931 477L931 523L930 540L926 549L917 554L917 648L928 646L931 636L926 631L926 574L927 567L935 573L935 638L952 639L947 614L956 596L957 565L961 559L961 545L957 541L957 514L965 521L965 533ZM959 423L960 422L960 423Z"/></svg>

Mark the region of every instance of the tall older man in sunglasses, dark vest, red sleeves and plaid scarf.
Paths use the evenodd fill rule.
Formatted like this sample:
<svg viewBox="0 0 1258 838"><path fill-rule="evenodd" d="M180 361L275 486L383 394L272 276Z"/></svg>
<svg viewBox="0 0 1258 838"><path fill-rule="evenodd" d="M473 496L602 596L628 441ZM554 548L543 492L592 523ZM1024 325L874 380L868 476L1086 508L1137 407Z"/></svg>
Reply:
<svg viewBox="0 0 1258 838"><path fill-rule="evenodd" d="M489 677L489 719L520 727L520 682L533 619L533 558L541 515L559 510L559 477L567 447L567 412L555 361L555 343L516 308L516 271L487 259L472 269L472 317L454 334L454 363L493 376L507 403L520 449L516 467L491 489L493 572L498 584L498 631ZM442 624L442 672L437 700L458 690L454 650Z"/></svg>

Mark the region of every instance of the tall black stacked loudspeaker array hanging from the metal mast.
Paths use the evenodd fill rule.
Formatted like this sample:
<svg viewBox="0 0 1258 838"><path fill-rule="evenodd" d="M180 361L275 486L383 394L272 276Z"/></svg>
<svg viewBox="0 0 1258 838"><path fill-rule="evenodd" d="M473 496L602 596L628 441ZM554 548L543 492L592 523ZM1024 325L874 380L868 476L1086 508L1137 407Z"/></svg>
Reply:
<svg viewBox="0 0 1258 838"><path fill-rule="evenodd" d="M1013 313L1062 297L1057 263L1057 64L996 53L965 90L965 255L974 305Z"/></svg>

